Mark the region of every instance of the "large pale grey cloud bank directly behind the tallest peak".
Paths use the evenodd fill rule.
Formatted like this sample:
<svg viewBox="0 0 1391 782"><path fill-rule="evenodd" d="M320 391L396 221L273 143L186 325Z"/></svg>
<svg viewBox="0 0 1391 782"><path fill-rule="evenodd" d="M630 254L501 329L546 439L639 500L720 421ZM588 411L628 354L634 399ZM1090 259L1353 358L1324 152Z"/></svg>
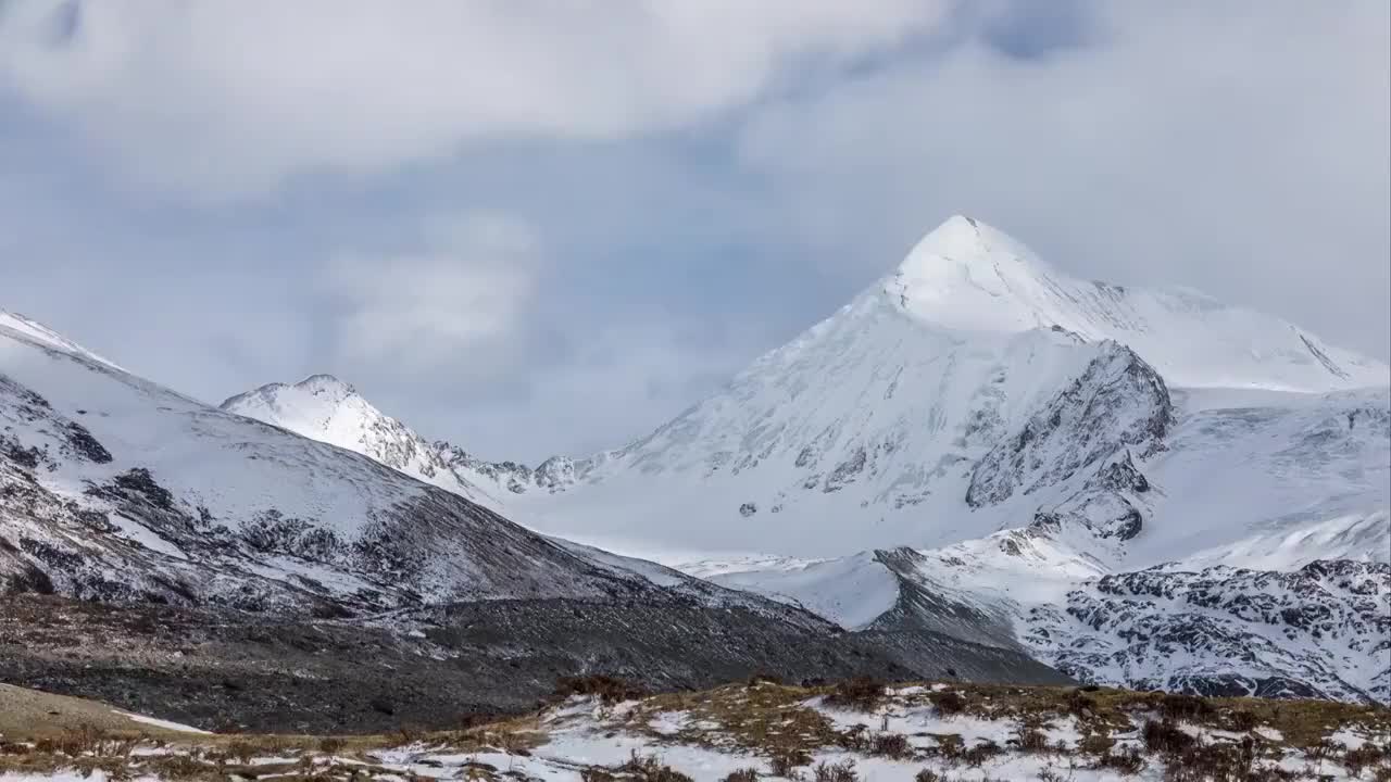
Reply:
<svg viewBox="0 0 1391 782"><path fill-rule="evenodd" d="M1089 46L971 43L755 111L740 154L780 182L769 218L868 276L965 212L1072 273L1391 353L1391 6L1092 8Z"/></svg>

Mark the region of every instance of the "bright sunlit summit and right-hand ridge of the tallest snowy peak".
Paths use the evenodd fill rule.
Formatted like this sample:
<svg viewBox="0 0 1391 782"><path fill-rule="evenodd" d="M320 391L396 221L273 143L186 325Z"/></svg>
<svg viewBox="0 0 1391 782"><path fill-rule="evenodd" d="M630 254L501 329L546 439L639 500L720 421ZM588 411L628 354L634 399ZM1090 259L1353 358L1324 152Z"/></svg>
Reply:
<svg viewBox="0 0 1391 782"><path fill-rule="evenodd" d="M960 214L924 237L874 292L947 331L1056 328L1117 340L1177 387L1324 392L1381 387L1388 377L1381 362L1189 289L1072 278L1004 231Z"/></svg>

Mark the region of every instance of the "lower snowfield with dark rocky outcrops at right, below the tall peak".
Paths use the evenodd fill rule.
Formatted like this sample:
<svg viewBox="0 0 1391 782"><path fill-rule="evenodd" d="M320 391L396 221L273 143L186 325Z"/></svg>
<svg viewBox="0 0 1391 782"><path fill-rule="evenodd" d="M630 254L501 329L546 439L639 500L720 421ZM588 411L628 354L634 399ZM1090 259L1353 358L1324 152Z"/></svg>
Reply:
<svg viewBox="0 0 1391 782"><path fill-rule="evenodd" d="M1100 683L1391 701L1391 395L1209 397L1184 395L1164 451L1099 459L1018 529L684 568L847 628L1015 639Z"/></svg>

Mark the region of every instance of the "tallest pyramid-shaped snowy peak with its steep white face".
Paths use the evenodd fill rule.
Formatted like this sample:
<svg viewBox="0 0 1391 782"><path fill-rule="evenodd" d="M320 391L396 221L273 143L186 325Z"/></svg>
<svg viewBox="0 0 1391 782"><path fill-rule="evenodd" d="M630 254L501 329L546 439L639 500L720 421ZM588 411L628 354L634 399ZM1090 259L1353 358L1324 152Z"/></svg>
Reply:
<svg viewBox="0 0 1391 782"><path fill-rule="evenodd" d="M1198 412L1184 408L1191 391L1202 406L1298 406L1391 383L1385 365L1278 319L1187 291L1068 280L1004 234L953 217L850 305L652 434L551 459L541 486L515 472L506 487L462 474L527 523L619 545L811 557L942 545L1020 526L1064 498L1057 480L1035 476L1010 501L961 512L963 497L983 491L993 448L1027 437L1025 422L1052 415L1042 406L1063 388L1086 394L1107 372L1132 385L1107 392L1113 415L1159 416L1156 436L1163 419ZM1106 442L1077 458L1095 447ZM1031 459L1056 455L1031 448ZM1206 519L1230 494L1191 505ZM1264 520L1252 516L1235 526Z"/></svg>

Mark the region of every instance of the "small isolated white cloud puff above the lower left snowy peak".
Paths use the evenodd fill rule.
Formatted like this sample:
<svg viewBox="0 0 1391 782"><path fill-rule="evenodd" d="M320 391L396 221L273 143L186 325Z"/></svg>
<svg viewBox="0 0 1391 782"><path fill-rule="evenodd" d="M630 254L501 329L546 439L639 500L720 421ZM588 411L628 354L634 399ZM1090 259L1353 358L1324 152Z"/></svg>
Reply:
<svg viewBox="0 0 1391 782"><path fill-rule="evenodd" d="M419 246L384 257L345 255L324 276L338 301L341 359L413 372L466 362L505 340L534 289L541 245L501 213L435 218Z"/></svg>

